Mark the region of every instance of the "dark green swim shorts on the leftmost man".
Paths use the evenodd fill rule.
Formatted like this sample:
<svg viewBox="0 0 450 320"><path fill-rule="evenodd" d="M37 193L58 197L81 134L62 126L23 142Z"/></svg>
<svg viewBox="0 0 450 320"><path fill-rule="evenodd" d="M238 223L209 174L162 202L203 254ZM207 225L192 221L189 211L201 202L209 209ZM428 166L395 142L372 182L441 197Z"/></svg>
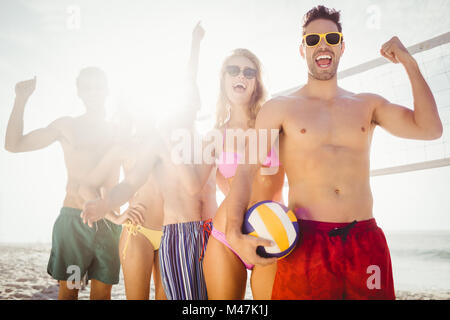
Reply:
<svg viewBox="0 0 450 320"><path fill-rule="evenodd" d="M122 227L103 219L90 228L80 214L80 209L61 209L53 226L48 274L56 280L67 281L75 271L80 272L81 278L87 272L89 280L119 283Z"/></svg>

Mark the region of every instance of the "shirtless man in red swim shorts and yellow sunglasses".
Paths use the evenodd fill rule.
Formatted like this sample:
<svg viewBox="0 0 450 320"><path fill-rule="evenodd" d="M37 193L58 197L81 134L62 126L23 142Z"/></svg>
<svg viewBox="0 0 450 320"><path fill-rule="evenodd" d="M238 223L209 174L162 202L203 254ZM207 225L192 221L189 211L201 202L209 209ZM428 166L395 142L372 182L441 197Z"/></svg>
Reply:
<svg viewBox="0 0 450 320"><path fill-rule="evenodd" d="M403 138L442 135L433 95L397 37L380 53L405 68L414 111L338 87L336 71L345 48L340 32L335 10L318 6L305 15L300 54L308 65L307 84L268 101L256 120L257 129L279 130L289 208L299 218L302 235L296 249L278 261L273 299L395 299L389 249L372 215L372 135L377 125ZM267 265L275 260L258 256L256 248L268 241L240 231L258 167L238 168L228 198L226 236L248 263Z"/></svg>

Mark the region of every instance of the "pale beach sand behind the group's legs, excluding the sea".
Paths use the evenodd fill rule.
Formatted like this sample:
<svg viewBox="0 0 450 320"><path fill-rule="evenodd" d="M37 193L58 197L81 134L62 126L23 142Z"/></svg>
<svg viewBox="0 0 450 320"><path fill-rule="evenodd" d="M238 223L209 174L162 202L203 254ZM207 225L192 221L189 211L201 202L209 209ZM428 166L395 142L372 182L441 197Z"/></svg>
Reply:
<svg viewBox="0 0 450 320"><path fill-rule="evenodd" d="M6 300L53 300L58 296L58 284L47 274L47 261L50 255L49 244L0 245L0 299ZM396 291L401 300L450 300L450 291L423 290L412 292ZM125 299L122 274L120 282L113 286L111 297ZM154 291L150 294L154 299ZM246 299L252 295L247 286ZM89 285L80 291L80 300L89 299Z"/></svg>

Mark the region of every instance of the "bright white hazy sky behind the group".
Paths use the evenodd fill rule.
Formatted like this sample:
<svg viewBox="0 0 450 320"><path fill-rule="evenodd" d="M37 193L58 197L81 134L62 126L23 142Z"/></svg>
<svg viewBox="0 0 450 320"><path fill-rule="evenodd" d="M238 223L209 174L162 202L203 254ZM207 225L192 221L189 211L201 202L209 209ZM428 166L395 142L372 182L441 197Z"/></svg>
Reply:
<svg viewBox="0 0 450 320"><path fill-rule="evenodd" d="M75 78L86 66L106 71L111 88L110 114L124 100L146 116L170 112L168 106L179 103L177 88L185 73L191 32L199 20L206 34L198 86L201 113L210 116L207 119L212 119L215 109L222 60L234 48L248 48L260 58L271 94L301 85L306 80L306 65L298 52L301 21L304 13L318 4L342 13L346 52L339 70L379 57L381 45L394 35L410 46L450 30L447 0L2 0L1 141L16 82L37 76L36 91L25 111L27 132L57 117L84 111L76 96ZM448 57L448 45L439 50ZM434 61L439 62L438 58ZM392 74L403 73L401 67L395 68ZM389 86L389 81L380 82ZM446 107L448 78L447 83L444 78L443 88L437 100ZM406 94L411 96L407 89ZM448 114L448 110L442 112ZM208 121L203 126L207 127ZM450 156L447 128L434 144L443 150L434 158ZM385 141L380 140L382 136L394 143L389 150L400 143L377 129L373 163L381 163L386 154L384 142L376 143ZM419 157L423 154L420 150L418 153ZM389 161L397 161L396 157ZM50 242L65 191L60 146L24 154L1 148L0 170L0 242ZM371 186L374 216L385 230L450 229L450 167L374 177Z"/></svg>

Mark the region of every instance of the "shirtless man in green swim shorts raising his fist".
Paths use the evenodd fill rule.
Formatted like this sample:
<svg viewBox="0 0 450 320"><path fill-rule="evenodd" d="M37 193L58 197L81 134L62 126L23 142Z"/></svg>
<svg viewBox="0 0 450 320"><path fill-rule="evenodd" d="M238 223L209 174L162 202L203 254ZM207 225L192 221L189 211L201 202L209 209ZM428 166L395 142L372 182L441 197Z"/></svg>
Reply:
<svg viewBox="0 0 450 320"><path fill-rule="evenodd" d="M67 282L73 273L73 266L79 268L81 277L88 273L91 299L110 299L112 285L119 281L118 243L121 228L103 220L93 230L84 225L79 217L84 202L92 200L81 196L79 187L86 179L86 173L116 141L115 128L105 120L106 76L98 68L82 69L77 78L77 88L86 113L74 118L59 118L46 128L24 135L24 109L35 87L36 78L16 85L16 100L8 122L5 149L15 153L33 151L55 141L59 141L63 148L68 177L66 197L53 227L47 271L59 280L58 299L78 298L79 287ZM119 167L112 168L102 188L108 190L117 183Z"/></svg>

